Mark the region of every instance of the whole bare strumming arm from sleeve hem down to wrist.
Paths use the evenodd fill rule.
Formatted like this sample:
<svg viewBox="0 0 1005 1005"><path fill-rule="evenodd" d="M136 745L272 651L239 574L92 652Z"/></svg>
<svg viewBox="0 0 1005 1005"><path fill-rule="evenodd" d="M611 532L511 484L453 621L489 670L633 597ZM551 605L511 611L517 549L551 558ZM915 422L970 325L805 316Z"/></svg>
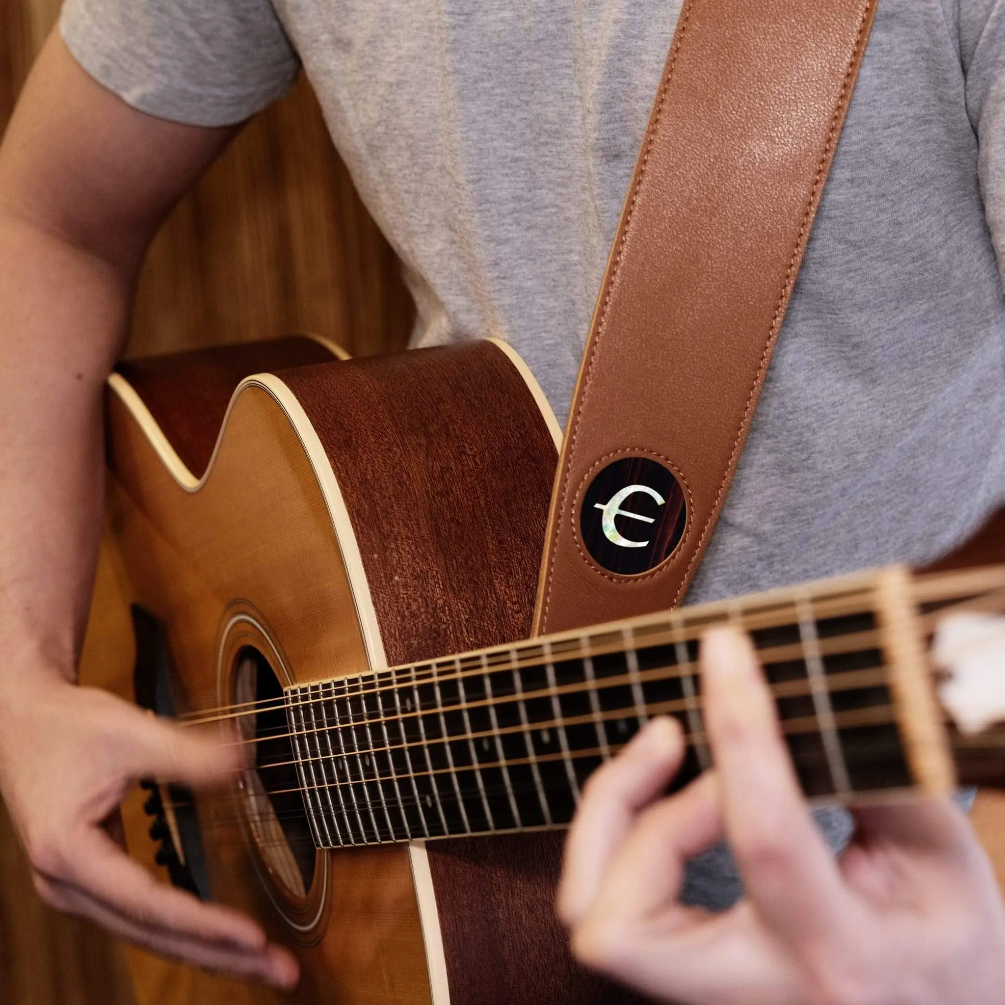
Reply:
<svg viewBox="0 0 1005 1005"><path fill-rule="evenodd" d="M233 136L143 115L53 33L0 145L0 687L75 674L102 393L161 220Z"/></svg>

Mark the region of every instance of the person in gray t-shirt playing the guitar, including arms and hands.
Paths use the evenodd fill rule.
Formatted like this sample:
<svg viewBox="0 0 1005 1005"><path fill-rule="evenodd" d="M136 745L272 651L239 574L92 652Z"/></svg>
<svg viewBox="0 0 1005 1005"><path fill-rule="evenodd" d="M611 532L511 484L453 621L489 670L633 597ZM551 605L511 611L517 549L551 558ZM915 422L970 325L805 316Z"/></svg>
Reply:
<svg viewBox="0 0 1005 1005"><path fill-rule="evenodd" d="M0 790L49 903L297 979L255 923L157 884L103 826L137 779L205 785L239 756L74 684L102 389L161 220L303 63L408 267L417 344L499 337L565 414L679 13L68 0L0 148ZM1005 5L884 0L688 602L923 564L1005 501L1003 242ZM835 862L847 818L810 822L742 636L705 639L703 681L715 772L663 798L681 742L657 720L585 787L559 892L579 957L694 1005L997 1001L1005 907L962 812L857 811Z"/></svg>

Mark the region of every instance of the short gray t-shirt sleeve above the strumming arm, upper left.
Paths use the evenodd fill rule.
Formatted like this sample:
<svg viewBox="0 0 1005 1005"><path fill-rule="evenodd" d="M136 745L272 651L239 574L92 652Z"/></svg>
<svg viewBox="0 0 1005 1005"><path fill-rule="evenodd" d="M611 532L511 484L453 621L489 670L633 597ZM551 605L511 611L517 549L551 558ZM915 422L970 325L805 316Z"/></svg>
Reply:
<svg viewBox="0 0 1005 1005"><path fill-rule="evenodd" d="M59 26L99 83L193 126L242 122L299 69L269 0L66 0Z"/></svg>

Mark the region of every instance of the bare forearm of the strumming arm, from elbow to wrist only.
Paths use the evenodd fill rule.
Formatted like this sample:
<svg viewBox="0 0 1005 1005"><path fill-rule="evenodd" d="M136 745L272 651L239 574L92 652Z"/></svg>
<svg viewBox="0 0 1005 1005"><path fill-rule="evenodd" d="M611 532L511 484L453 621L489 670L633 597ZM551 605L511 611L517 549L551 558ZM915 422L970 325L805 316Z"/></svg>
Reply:
<svg viewBox="0 0 1005 1005"><path fill-rule="evenodd" d="M75 674L99 539L103 385L131 271L0 212L0 687L28 667Z"/></svg>

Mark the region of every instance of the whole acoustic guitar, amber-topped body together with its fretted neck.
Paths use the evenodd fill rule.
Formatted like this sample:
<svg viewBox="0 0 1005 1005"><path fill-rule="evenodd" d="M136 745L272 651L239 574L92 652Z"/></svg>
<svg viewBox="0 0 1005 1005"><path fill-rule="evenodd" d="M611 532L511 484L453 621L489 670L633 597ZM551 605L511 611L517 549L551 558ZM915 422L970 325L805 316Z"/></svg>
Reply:
<svg viewBox="0 0 1005 1005"><path fill-rule="evenodd" d="M148 783L158 861L296 948L294 1000L635 1000L567 952L561 828L649 717L684 727L676 784L708 767L695 661L720 621L753 633L811 798L997 780L1000 735L947 725L927 647L947 609L1005 608L1000 522L942 571L529 638L561 433L528 368L492 342L340 355L133 361L108 393L134 696L255 752L224 795ZM630 495L597 507L625 541Z"/></svg>

